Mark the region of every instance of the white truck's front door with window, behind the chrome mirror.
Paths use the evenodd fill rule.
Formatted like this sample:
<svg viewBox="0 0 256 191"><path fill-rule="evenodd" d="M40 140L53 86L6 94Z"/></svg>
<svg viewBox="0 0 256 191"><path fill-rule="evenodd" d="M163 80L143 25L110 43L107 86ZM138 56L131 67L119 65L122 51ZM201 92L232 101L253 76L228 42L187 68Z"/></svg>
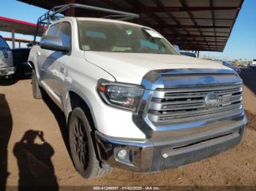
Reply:
<svg viewBox="0 0 256 191"><path fill-rule="evenodd" d="M56 23L50 26L47 35L57 35L61 38L63 46L71 46L71 26L68 22ZM52 95L53 101L61 106L61 95L63 91L67 64L69 63L69 52L40 49L39 66L40 77L48 93Z"/></svg>

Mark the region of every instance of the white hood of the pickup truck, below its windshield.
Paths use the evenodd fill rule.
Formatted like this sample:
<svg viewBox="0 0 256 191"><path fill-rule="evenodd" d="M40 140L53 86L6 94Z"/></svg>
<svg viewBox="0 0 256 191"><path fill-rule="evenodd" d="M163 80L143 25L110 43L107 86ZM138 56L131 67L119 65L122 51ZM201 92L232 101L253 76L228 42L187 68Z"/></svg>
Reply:
<svg viewBox="0 0 256 191"><path fill-rule="evenodd" d="M184 55L86 51L85 59L113 75L117 82L133 84L140 84L151 70L229 69L219 63Z"/></svg>

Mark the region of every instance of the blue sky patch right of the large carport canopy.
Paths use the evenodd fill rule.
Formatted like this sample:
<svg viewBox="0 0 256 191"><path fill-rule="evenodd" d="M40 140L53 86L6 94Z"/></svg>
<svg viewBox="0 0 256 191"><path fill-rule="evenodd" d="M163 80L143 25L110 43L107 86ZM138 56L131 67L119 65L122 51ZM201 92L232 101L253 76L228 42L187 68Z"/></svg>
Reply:
<svg viewBox="0 0 256 191"><path fill-rule="evenodd" d="M244 0L223 52L200 52L200 54L227 60L256 59L256 0Z"/></svg>

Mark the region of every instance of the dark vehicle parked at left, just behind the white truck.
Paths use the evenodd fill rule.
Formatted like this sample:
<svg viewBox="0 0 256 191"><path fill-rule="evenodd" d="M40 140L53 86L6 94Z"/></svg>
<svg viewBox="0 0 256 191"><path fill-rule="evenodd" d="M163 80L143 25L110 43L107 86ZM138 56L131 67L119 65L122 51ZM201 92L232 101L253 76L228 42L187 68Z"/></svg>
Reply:
<svg viewBox="0 0 256 191"><path fill-rule="evenodd" d="M32 71L28 63L30 48L16 48L12 50L13 65L16 67L17 77L31 77Z"/></svg>

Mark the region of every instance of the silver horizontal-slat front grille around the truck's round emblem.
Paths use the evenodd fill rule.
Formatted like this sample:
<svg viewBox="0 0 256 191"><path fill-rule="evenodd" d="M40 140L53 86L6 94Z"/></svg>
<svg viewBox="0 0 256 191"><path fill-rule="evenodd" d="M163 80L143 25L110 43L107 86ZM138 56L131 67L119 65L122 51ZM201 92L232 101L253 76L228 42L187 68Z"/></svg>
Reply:
<svg viewBox="0 0 256 191"><path fill-rule="evenodd" d="M206 107L208 93L219 95L217 107ZM242 100L241 84L157 89L148 106L148 118L152 122L184 122L228 117L241 113Z"/></svg>

